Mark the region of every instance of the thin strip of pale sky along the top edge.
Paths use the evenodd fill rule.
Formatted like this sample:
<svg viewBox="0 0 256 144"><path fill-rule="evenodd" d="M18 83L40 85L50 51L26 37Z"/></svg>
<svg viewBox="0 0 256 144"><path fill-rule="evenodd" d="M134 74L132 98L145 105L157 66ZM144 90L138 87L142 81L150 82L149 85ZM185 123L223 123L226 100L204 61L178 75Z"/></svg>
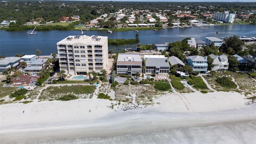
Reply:
<svg viewBox="0 0 256 144"><path fill-rule="evenodd" d="M119 2L256 2L256 0L79 0L79 1L119 1Z"/></svg>

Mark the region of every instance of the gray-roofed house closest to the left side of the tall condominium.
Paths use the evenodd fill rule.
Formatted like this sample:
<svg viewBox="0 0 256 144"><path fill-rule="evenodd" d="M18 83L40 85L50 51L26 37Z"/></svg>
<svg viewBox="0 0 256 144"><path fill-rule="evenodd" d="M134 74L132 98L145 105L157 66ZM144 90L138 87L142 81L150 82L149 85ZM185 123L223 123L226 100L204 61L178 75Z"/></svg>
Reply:
<svg viewBox="0 0 256 144"><path fill-rule="evenodd" d="M28 64L28 66L26 68L24 68L23 70L25 72L35 72L38 73L40 72L40 70L43 68L44 63L47 61L48 59L46 58L38 58L32 62L30 62Z"/></svg>

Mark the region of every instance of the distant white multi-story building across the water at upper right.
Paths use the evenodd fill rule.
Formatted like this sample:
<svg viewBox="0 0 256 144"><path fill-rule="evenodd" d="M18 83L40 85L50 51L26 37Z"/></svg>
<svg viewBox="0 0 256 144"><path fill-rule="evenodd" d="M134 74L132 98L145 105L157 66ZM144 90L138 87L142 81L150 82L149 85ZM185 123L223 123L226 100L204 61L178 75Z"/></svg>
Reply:
<svg viewBox="0 0 256 144"><path fill-rule="evenodd" d="M223 13L215 12L214 20L233 23L235 16L236 14L229 14L228 11L224 11Z"/></svg>

